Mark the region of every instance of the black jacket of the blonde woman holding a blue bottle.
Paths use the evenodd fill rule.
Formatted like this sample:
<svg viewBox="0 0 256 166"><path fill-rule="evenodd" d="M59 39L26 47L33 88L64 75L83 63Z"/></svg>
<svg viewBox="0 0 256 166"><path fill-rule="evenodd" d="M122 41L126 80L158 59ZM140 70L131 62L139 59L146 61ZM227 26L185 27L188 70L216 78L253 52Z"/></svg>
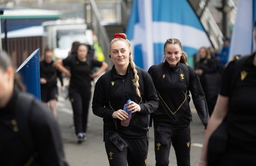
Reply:
<svg viewBox="0 0 256 166"><path fill-rule="evenodd" d="M110 72L110 73L109 73ZM92 110L96 116L103 117L104 132L117 132L126 138L145 138L149 124L149 114L159 106L156 89L150 75L138 68L140 77L141 98L136 94L133 85L134 73L131 66L128 67L124 76L117 74L115 66L102 75L95 84ZM141 111L132 114L129 126L121 126L119 119L114 119L112 114L115 110L123 109L127 100L140 104Z"/></svg>

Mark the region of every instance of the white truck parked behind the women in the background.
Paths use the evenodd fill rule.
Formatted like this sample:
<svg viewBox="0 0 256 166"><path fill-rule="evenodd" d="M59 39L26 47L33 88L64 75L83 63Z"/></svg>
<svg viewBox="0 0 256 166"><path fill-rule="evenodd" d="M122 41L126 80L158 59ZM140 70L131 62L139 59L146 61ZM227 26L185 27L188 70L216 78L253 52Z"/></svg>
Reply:
<svg viewBox="0 0 256 166"><path fill-rule="evenodd" d="M44 28L43 48L51 48L56 58L68 56L74 41L93 45L93 32L84 19L53 20L42 22Z"/></svg>

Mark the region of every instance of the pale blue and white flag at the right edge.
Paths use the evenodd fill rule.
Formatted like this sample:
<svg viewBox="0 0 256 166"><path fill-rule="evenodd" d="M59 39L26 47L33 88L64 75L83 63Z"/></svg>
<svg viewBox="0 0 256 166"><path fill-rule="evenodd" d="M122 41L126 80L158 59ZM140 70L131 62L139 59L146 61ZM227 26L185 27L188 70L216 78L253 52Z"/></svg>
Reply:
<svg viewBox="0 0 256 166"><path fill-rule="evenodd" d="M232 32L229 56L248 55L255 51L253 23L256 19L256 0L239 1Z"/></svg>

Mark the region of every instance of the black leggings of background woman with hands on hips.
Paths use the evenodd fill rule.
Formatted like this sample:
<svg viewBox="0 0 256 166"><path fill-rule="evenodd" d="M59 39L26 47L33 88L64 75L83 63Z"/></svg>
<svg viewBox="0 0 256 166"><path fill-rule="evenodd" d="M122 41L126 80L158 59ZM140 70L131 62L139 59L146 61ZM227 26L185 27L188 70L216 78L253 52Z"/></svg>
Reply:
<svg viewBox="0 0 256 166"><path fill-rule="evenodd" d="M86 133L90 97L90 93L78 93L72 90L69 92L69 98L73 109L76 134Z"/></svg>

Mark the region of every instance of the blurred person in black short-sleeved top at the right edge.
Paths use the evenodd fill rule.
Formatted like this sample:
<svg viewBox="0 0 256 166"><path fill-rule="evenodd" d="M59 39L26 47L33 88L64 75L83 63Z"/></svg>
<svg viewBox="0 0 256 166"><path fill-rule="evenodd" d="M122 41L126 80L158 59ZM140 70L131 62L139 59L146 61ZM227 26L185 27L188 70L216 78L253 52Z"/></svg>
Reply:
<svg viewBox="0 0 256 166"><path fill-rule="evenodd" d="M254 24L256 41L256 22ZM250 44L250 43L248 43ZM235 74L236 73L236 74ZM204 138L204 146L198 166L204 165L256 165L256 52L250 56L230 61L225 68L220 94ZM226 130L218 130L226 124ZM216 131L223 131L227 139L216 141L211 147L223 148L222 152L209 153L209 140ZM220 142L221 141L221 142ZM226 143L227 146L224 146ZM212 156L220 156L209 160Z"/></svg>

